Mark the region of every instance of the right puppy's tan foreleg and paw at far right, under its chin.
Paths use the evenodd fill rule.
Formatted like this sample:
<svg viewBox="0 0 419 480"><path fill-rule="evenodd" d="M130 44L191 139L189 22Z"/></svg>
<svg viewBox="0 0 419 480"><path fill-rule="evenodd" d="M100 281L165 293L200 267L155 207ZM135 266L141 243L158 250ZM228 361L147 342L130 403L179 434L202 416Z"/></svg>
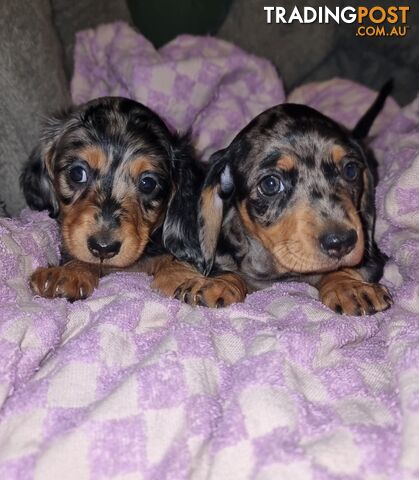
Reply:
<svg viewBox="0 0 419 480"><path fill-rule="evenodd" d="M323 275L317 287L321 301L337 313L371 315L387 310L393 303L384 285L366 282L353 268Z"/></svg>

